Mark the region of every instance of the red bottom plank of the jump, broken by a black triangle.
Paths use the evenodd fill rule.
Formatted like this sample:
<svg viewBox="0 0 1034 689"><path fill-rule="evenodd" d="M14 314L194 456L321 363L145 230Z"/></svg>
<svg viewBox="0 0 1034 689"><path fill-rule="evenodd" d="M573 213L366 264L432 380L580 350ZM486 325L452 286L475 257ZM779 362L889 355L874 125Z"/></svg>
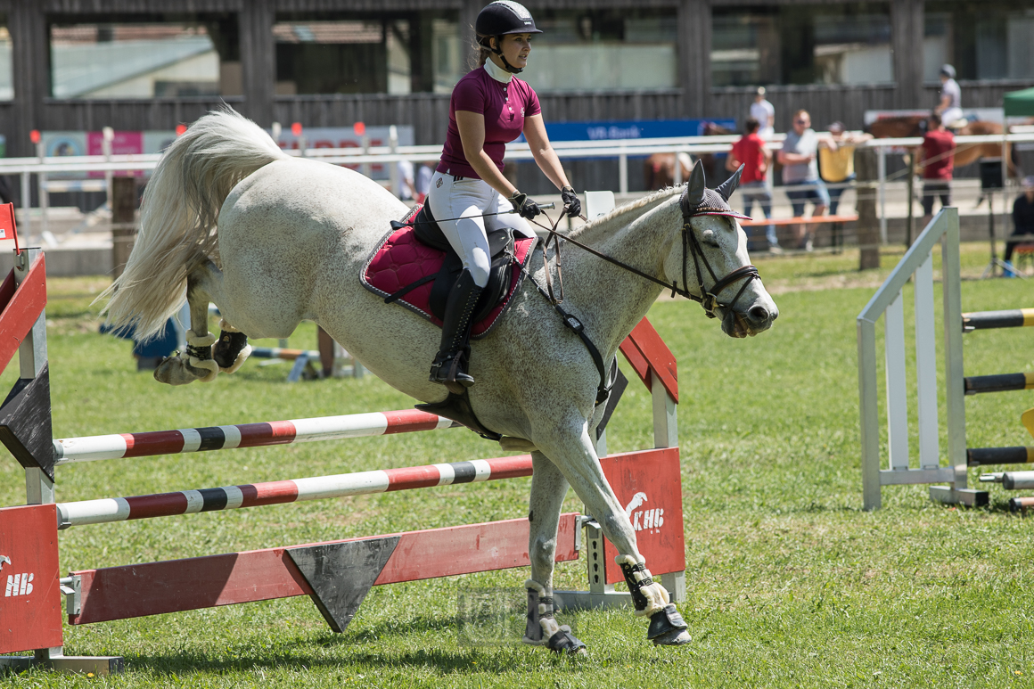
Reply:
<svg viewBox="0 0 1034 689"><path fill-rule="evenodd" d="M560 515L556 562L578 559L577 513ZM527 519L402 534L375 585L488 572L529 564ZM375 536L373 538L384 538ZM364 540L362 538L331 541ZM307 545L317 545L315 543ZM82 576L83 625L311 594L286 546L72 572Z"/></svg>

